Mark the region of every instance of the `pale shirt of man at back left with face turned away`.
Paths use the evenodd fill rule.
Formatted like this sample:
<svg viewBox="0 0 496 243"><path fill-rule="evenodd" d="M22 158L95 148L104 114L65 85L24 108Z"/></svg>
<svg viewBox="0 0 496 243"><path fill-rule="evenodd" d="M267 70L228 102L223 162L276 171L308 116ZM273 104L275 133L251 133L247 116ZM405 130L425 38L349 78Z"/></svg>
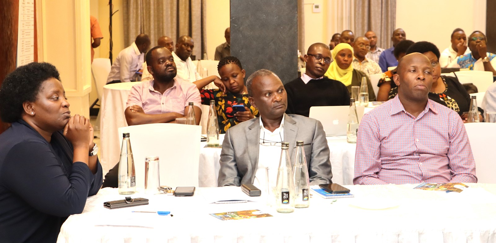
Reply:
<svg viewBox="0 0 496 243"><path fill-rule="evenodd" d="M144 56L145 53L141 53L134 42L131 46L121 50L112 64L109 76L107 77L107 83L114 80L121 80L123 83L135 81L136 71L141 69Z"/></svg>

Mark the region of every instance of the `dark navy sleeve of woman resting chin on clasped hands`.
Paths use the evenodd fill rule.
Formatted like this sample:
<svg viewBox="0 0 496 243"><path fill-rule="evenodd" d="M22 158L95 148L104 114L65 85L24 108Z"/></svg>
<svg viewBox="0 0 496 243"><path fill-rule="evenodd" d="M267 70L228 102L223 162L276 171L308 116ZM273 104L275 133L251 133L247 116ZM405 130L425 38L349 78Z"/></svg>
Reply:
<svg viewBox="0 0 496 243"><path fill-rule="evenodd" d="M29 151L29 152L26 152ZM56 155L39 141L19 143L5 156L2 184L37 210L66 217L81 213L88 195L96 194L102 183L102 167L93 175L86 164L72 164L65 176Z"/></svg>

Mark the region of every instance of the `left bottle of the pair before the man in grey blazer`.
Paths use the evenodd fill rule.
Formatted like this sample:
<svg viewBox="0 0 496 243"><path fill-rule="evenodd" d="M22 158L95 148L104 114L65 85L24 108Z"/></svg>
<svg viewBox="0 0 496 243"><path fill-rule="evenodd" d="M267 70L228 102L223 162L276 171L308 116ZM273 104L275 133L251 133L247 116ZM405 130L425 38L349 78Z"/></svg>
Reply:
<svg viewBox="0 0 496 243"><path fill-rule="evenodd" d="M289 157L289 143L281 145L281 159L277 171L276 187L276 211L280 213L292 213L295 211L293 170Z"/></svg>

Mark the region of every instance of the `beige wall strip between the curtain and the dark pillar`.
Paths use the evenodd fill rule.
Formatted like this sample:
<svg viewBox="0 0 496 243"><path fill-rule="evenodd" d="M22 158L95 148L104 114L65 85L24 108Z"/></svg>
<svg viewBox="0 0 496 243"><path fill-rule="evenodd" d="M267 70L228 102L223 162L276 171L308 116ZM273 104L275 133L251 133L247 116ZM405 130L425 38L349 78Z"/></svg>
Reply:
<svg viewBox="0 0 496 243"><path fill-rule="evenodd" d="M224 31L230 26L231 10L229 0L206 0L206 3L207 55L213 60L215 48L226 42Z"/></svg>

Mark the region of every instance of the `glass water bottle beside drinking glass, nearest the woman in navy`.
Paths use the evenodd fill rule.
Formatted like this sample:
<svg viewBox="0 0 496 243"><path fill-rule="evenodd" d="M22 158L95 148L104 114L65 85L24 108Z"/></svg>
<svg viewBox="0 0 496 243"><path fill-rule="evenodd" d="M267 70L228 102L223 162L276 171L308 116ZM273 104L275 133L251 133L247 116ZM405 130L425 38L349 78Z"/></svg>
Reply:
<svg viewBox="0 0 496 243"><path fill-rule="evenodd" d="M136 171L132 158L129 133L123 133L121 159L119 160L119 194L134 194L136 192Z"/></svg>

